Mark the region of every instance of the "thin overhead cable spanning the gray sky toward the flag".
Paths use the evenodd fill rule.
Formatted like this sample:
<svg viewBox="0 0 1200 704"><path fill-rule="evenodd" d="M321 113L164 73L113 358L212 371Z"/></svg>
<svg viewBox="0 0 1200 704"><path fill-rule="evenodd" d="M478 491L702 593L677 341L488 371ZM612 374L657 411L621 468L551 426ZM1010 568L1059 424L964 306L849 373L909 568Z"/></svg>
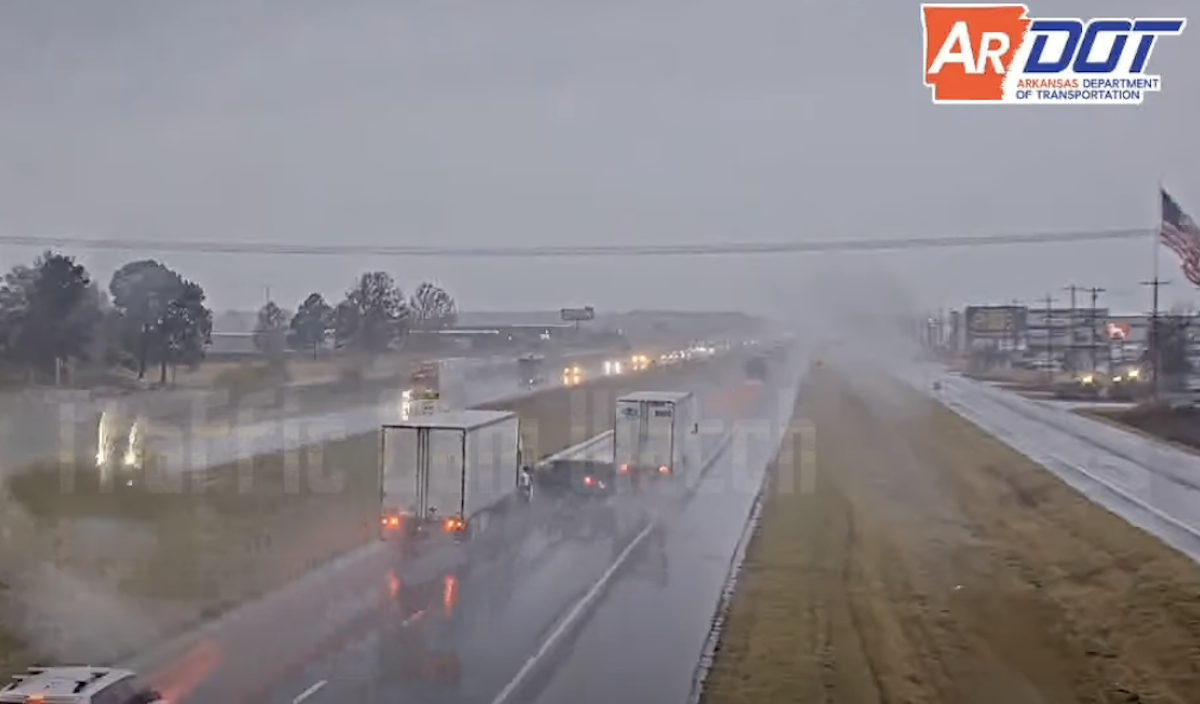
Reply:
<svg viewBox="0 0 1200 704"><path fill-rule="evenodd" d="M700 257L712 254L788 254L822 252L883 252L892 249L940 249L1135 240L1154 235L1148 228L1075 230L1057 233L985 235L968 237L899 237L815 240L808 242L725 242L712 245L584 245L550 247L412 247L389 245L289 245L202 240L131 240L68 236L0 235L0 245L72 247L78 249L191 252L205 254L289 254L308 257L445 257L445 258L544 258L544 257Z"/></svg>

